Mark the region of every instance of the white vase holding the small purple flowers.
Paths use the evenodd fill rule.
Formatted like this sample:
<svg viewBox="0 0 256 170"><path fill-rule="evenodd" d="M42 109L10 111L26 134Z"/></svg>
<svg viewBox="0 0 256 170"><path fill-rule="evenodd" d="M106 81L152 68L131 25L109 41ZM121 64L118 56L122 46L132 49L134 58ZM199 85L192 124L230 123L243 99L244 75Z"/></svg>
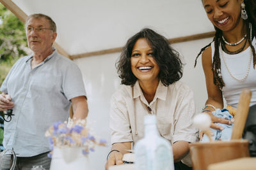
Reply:
<svg viewBox="0 0 256 170"><path fill-rule="evenodd" d="M88 170L89 158L84 156L81 147L55 147L52 153L50 170Z"/></svg>

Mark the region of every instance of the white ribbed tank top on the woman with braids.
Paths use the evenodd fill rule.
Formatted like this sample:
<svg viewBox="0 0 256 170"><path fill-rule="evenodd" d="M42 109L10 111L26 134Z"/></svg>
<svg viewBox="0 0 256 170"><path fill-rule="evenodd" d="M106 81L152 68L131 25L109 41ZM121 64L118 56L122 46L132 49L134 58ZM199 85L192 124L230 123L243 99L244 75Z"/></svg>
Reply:
<svg viewBox="0 0 256 170"><path fill-rule="evenodd" d="M252 45L256 50L255 38L253 38ZM211 48L212 48L212 60L213 60L214 42L211 43ZM233 55L223 52L228 69L236 78L243 78L243 76L246 74L248 61L250 59L250 52L251 52L250 46L246 48L246 50L244 50L243 52L233 54ZM222 94L225 100L227 101L227 104L231 105L234 108L237 108L237 104L239 102L239 95L241 94L242 90L245 88L250 89L252 91L252 99L251 99L250 106L252 106L253 104L256 104L256 66L254 69L253 55L252 55L252 60L250 64L249 74L244 81L237 81L234 78L232 78L232 76L230 76L230 73L228 73L227 67L225 66L223 57L221 56L221 52L220 52L220 60L221 60L221 75L225 83L225 87L223 87L222 89Z"/></svg>

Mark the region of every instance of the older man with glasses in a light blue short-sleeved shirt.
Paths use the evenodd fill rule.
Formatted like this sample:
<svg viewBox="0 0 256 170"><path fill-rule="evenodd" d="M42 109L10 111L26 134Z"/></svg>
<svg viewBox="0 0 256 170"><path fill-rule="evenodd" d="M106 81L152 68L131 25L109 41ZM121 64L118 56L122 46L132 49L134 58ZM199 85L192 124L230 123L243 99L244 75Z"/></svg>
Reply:
<svg viewBox="0 0 256 170"><path fill-rule="evenodd" d="M0 89L0 111L12 109L14 114L4 123L3 145L18 154L16 169L49 169L45 131L54 122L67 120L70 101L74 117L85 118L86 92L76 64L52 47L57 33L50 17L30 15L26 36L33 53L13 65Z"/></svg>

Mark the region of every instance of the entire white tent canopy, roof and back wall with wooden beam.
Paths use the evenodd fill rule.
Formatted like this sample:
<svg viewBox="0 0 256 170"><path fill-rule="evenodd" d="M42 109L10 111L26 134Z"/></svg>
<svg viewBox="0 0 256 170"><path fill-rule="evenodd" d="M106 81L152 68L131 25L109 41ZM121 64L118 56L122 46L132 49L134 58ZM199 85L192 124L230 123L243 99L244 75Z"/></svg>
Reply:
<svg viewBox="0 0 256 170"><path fill-rule="evenodd" d="M93 122L95 134L107 139L109 144L107 148L96 148L95 153L90 155L93 169L104 169L106 155L111 147L109 101L120 85L115 61L127 39L144 27L154 29L171 42L178 39L173 41L179 42L174 43L173 47L180 52L186 64L182 81L194 90L197 110L200 111L204 106L207 92L200 59L195 69L193 65L200 48L211 42L212 38L209 37L214 28L205 15L201 0L0 2L22 21L27 15L44 13L56 22L56 47L66 57L74 59L81 69L88 94L88 120Z"/></svg>

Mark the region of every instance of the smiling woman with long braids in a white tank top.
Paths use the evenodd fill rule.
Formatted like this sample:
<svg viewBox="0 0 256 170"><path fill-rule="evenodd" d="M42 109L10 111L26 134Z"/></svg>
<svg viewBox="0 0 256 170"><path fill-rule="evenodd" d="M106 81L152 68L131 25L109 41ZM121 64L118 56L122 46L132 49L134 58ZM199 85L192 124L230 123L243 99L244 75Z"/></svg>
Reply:
<svg viewBox="0 0 256 170"><path fill-rule="evenodd" d="M198 54L202 53L208 94L203 112L211 115L212 122L232 124L230 120L213 117L211 112L223 108L223 97L227 105L237 108L239 94L245 88L252 91L250 106L256 104L256 1L202 0L202 3L216 30L212 43ZM223 130L214 123L211 127Z"/></svg>

